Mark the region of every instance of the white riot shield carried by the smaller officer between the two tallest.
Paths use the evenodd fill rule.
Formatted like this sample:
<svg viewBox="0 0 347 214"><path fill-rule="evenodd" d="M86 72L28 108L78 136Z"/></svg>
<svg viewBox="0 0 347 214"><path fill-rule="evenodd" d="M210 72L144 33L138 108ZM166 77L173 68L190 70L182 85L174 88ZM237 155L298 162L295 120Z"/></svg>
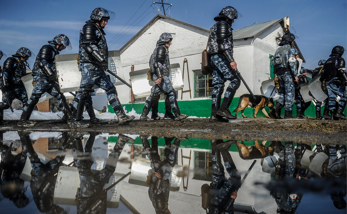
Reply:
<svg viewBox="0 0 347 214"><path fill-rule="evenodd" d="M133 93L134 98L141 98L146 97L151 94L151 88L153 81L147 80L147 69L142 69L139 71L132 71L129 73L130 76L130 82L133 86ZM170 65L170 76L169 76L172 87L176 91L181 90L183 88L183 79L182 79L182 73L181 68L179 66L179 63L171 64Z"/></svg>

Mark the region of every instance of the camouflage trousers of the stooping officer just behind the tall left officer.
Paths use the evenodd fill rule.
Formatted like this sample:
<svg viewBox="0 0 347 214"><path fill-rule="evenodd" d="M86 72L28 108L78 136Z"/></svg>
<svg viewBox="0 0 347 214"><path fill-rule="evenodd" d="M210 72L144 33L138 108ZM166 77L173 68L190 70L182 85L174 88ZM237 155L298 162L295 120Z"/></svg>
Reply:
<svg viewBox="0 0 347 214"><path fill-rule="evenodd" d="M36 75L33 75L33 79L35 82L34 89L30 99L23 108L23 112L27 111L29 104L31 104L32 102L34 102L34 104L36 105L39 102L39 99L42 96L42 94L44 94L45 92L56 97L61 110L66 111L63 105L63 103L66 102L66 98L64 94L60 92L57 83L52 83L48 79Z"/></svg>

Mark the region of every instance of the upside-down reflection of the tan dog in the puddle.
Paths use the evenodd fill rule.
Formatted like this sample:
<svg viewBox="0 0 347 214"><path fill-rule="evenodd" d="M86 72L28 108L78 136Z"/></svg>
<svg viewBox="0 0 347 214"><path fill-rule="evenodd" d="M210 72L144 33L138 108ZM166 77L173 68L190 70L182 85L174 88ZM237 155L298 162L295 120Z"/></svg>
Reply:
<svg viewBox="0 0 347 214"><path fill-rule="evenodd" d="M260 145L258 141L255 141L255 145L247 147L245 145L245 142L241 140L241 143L238 141L235 142L235 145L237 146L239 150L240 158L244 160L251 160L251 159L258 159L258 158L265 158L268 156L273 155L273 146L271 145L266 148L265 147L266 140L264 140Z"/></svg>

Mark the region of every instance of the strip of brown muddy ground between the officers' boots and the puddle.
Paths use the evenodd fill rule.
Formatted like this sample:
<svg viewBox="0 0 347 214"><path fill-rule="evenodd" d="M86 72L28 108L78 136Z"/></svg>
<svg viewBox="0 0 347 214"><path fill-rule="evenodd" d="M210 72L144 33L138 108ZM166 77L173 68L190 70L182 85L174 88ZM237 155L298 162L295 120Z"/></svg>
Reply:
<svg viewBox="0 0 347 214"><path fill-rule="evenodd" d="M36 120L33 127L17 127L16 120L9 120L0 131L34 130L34 131L91 131L125 134L150 134L157 137L180 136L201 139L223 140L279 140L306 143L346 144L346 120L314 120L238 118L229 123L209 122L205 118L171 119L159 121L133 120L125 125L108 124L103 120L84 129L72 129L61 120ZM113 120L115 121L115 120ZM84 122L88 122L85 120Z"/></svg>

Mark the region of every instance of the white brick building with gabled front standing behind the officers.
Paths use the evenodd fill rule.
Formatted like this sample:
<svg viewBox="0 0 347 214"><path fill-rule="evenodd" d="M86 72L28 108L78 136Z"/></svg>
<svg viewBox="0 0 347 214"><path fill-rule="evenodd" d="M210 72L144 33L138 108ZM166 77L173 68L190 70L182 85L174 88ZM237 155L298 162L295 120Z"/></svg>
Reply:
<svg viewBox="0 0 347 214"><path fill-rule="evenodd" d="M213 87L211 85L211 76L202 75L200 63L201 52L206 48L209 31L208 29L194 26L171 17L160 14L156 15L119 49L125 79L129 80L129 72L132 66L134 66L135 71L149 67L148 61L160 34L163 32L175 33L176 38L172 41L172 46L169 48L170 63L179 63L181 72L183 72L184 68L184 88L182 90L189 90L187 74L189 74L191 87L191 96L189 92L184 92L183 96L181 96L182 90L177 91L177 100L179 100L181 112L198 117L208 117L211 114L210 99ZM240 73L254 94L260 94L261 82L270 78L270 55L274 54L279 47L278 43L280 39L278 37L281 37L284 32L283 19L244 27L233 32L235 61L237 62ZM295 44L294 47L297 48L297 45ZM141 50L141 52L138 50ZM301 53L299 57L305 62ZM184 63L185 60L188 63ZM127 86L117 86L117 90L123 92L119 94L122 104L131 102L131 91ZM236 92L236 96L244 93L248 93L248 91L241 84L239 90ZM144 99L134 101L140 103L135 103L135 105L126 104L127 110L131 111L134 108L137 113L141 113ZM235 108L237 102L237 99L235 101L233 100L233 106L230 109ZM163 112L163 106L163 102L160 102L159 112ZM254 112L252 109L245 110L245 114L249 114L249 116L253 115L252 112Z"/></svg>

